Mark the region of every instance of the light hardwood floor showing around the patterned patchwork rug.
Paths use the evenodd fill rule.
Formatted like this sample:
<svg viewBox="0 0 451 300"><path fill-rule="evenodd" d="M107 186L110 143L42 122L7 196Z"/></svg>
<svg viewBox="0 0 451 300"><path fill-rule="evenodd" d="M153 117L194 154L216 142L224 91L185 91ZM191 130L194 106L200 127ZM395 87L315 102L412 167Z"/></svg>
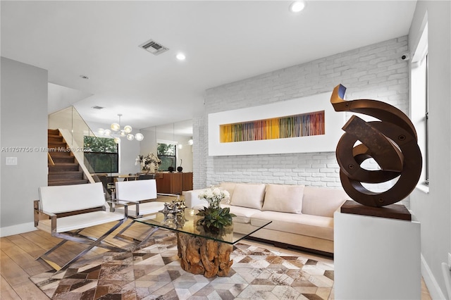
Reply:
<svg viewBox="0 0 451 300"><path fill-rule="evenodd" d="M118 230L121 230L122 226L119 227ZM104 230L105 228L105 225L100 225L98 227L92 227L92 229L87 230L87 232L89 232L90 235L99 236L102 230ZM135 224L126 231L126 234L129 237L140 238L142 237L142 233L147 229L148 227L146 225ZM118 230L116 230L116 232L118 232ZM115 232L113 232L110 237L107 237L107 240L109 242L118 246L125 246L126 244L128 244L127 241L113 239L114 234ZM51 249L52 246L60 241L61 239L51 237L51 235L49 235L47 232L40 230L23 233L21 235L1 237L0 299L48 299L48 297L30 281L29 277L48 270L52 270L49 265L47 265L47 263L40 259L38 261L35 261L35 258L43 254L48 249ZM259 245L266 249L280 251L284 254L307 256L317 261L331 261L330 258L324 256L317 256L315 254L310 254L308 252L297 251L293 249L280 249L271 244L254 242L250 240L246 240L245 243ZM80 252L83 247L84 246L80 244L68 242L58 250L58 256L54 256L55 260L59 260L61 262L65 260L68 261L68 259L75 256L75 254L78 254L78 252ZM80 259L86 259L100 254L104 251L106 250L96 247ZM431 299L431 296L429 296L428 289L426 288L426 285L424 285L423 280L421 280L421 299Z"/></svg>

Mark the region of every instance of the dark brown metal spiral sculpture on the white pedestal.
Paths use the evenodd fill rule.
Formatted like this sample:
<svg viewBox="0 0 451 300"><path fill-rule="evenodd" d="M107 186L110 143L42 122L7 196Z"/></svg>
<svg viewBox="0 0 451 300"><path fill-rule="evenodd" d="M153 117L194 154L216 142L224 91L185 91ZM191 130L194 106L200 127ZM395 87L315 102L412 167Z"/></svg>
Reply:
<svg viewBox="0 0 451 300"><path fill-rule="evenodd" d="M399 109L381 101L357 99L345 101L346 87L333 89L330 103L335 111L371 115L380 121L366 122L352 115L337 145L340 180L354 201L366 206L387 206L409 196L421 175L421 151L414 125ZM362 144L355 146L356 142ZM365 170L363 161L373 158L381 170ZM399 177L385 192L366 189L362 182L381 183Z"/></svg>

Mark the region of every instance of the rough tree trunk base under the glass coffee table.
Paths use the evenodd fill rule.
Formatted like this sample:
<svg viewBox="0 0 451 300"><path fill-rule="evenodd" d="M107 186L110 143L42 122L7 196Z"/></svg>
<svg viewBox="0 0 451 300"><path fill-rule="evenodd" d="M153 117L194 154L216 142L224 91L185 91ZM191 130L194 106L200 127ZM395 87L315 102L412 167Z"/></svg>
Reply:
<svg viewBox="0 0 451 300"><path fill-rule="evenodd" d="M233 265L232 244L177 232L177 246L180 265L189 273L204 274L207 278L227 276Z"/></svg>

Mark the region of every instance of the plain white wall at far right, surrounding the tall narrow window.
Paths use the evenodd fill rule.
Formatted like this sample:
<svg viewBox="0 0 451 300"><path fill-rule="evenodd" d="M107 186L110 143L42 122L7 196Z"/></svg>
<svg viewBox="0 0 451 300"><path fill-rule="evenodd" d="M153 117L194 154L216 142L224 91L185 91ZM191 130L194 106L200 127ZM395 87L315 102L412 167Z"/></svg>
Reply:
<svg viewBox="0 0 451 300"><path fill-rule="evenodd" d="M429 59L429 190L410 195L412 211L421 222L422 275L433 299L445 299L440 264L451 252L451 3L418 1L409 32L416 48L427 13ZM448 299L448 298L447 298Z"/></svg>

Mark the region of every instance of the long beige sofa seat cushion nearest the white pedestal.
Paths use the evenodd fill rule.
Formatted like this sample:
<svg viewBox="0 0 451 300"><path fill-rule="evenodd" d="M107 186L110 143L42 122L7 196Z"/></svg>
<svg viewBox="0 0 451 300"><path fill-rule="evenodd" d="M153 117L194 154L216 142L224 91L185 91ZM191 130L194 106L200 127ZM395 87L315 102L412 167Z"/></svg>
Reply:
<svg viewBox="0 0 451 300"><path fill-rule="evenodd" d="M278 211L261 211L252 215L251 224L254 226L261 226L266 220L273 221L271 224L264 227L268 230L290 232L333 241L333 218L321 217L318 215L306 215L304 213L297 214L280 213Z"/></svg>

